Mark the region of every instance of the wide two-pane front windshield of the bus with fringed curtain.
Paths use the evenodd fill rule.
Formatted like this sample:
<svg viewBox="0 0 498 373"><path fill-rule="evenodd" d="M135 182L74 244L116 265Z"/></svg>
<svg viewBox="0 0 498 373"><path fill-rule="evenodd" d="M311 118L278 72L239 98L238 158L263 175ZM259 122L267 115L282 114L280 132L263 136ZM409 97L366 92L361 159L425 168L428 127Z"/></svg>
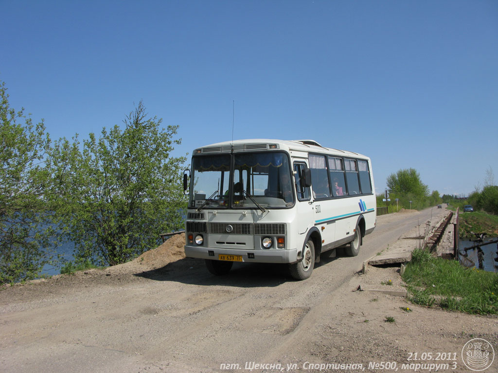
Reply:
<svg viewBox="0 0 498 373"><path fill-rule="evenodd" d="M233 157L233 163L229 154L192 159L193 193L190 206L273 208L294 204L294 188L286 153L235 153Z"/></svg>

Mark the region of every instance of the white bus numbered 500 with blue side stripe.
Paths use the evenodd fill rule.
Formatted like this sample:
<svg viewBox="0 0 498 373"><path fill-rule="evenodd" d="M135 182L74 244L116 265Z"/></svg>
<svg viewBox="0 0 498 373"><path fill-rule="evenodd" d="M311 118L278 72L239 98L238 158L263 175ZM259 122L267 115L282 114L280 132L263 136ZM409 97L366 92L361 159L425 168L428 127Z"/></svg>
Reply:
<svg viewBox="0 0 498 373"><path fill-rule="evenodd" d="M310 277L320 254L356 256L376 223L370 158L312 140L238 140L195 149L185 255L214 275L234 262L287 263Z"/></svg>

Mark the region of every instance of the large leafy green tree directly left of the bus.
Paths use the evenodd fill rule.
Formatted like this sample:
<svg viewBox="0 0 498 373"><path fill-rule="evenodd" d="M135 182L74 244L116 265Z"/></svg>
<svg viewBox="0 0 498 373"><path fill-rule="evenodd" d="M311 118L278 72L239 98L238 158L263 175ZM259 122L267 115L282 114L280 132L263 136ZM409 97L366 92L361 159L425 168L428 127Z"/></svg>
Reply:
<svg viewBox="0 0 498 373"><path fill-rule="evenodd" d="M58 165L71 160L66 196L68 237L76 258L96 265L116 265L157 246L159 234L182 226L186 207L181 182L185 157L171 157L177 126L159 128L146 118L143 103L124 120L125 128L90 133L78 149L61 143ZM69 175L69 176L68 176Z"/></svg>

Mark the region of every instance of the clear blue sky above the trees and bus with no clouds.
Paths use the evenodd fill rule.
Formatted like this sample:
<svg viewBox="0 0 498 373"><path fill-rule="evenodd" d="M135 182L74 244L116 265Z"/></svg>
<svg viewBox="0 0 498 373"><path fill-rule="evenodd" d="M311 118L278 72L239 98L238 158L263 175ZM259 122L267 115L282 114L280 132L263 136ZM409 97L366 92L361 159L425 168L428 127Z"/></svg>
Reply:
<svg viewBox="0 0 498 373"><path fill-rule="evenodd" d="M122 124L140 99L174 155L315 139L415 168L440 194L498 184L498 1L0 0L0 80L52 138Z"/></svg>

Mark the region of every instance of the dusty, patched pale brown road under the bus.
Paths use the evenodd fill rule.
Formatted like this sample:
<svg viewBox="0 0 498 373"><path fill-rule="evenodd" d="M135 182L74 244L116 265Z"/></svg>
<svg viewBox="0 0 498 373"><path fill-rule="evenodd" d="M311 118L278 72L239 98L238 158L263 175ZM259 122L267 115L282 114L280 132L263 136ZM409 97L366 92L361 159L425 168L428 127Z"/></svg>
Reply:
<svg viewBox="0 0 498 373"><path fill-rule="evenodd" d="M498 352L496 317L352 291L365 281L399 288L395 268L359 275L363 261L444 212L380 216L358 257L322 258L305 281L292 280L285 267L257 264L214 277L203 261L182 258L182 237L175 237L167 252L163 245L122 266L3 288L0 371L270 372L281 364L315 372L327 363L370 371L370 362L396 362L402 372L410 354L451 353L455 360L434 362L449 363L439 371L469 372L460 358L468 340L487 339ZM498 358L488 372L497 371Z"/></svg>

